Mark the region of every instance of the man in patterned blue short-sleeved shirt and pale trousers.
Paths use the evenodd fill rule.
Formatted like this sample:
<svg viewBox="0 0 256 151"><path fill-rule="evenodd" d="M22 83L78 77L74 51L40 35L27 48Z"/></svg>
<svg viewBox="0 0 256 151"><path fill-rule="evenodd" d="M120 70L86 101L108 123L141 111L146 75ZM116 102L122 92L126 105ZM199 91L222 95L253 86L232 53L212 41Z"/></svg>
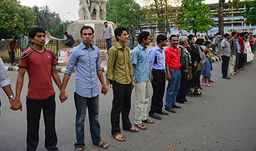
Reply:
<svg viewBox="0 0 256 151"><path fill-rule="evenodd" d="M138 42L139 45L131 53L136 96L134 124L138 128L145 130L147 127L142 122L154 123L152 120L147 119L149 87L150 82L153 80L147 50L147 45L150 43L150 33L147 31L141 32L138 36Z"/></svg>

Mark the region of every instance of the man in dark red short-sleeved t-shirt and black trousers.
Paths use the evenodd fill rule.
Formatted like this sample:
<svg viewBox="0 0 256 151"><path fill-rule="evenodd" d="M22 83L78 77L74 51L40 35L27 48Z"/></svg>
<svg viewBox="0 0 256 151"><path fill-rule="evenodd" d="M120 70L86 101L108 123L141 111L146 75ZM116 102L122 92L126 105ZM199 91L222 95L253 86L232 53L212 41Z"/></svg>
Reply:
<svg viewBox="0 0 256 151"><path fill-rule="evenodd" d="M20 92L24 75L28 71L29 83L27 94L27 150L36 150L38 145L38 131L41 110L45 123L45 148L58 150L57 135L55 131L55 92L52 86L52 78L61 89L60 77L56 70L56 56L54 51L44 47L45 31L41 27L35 27L29 31L29 38L33 47L20 56L19 75L16 83L16 97L13 108L22 111ZM67 93L66 96L67 97Z"/></svg>

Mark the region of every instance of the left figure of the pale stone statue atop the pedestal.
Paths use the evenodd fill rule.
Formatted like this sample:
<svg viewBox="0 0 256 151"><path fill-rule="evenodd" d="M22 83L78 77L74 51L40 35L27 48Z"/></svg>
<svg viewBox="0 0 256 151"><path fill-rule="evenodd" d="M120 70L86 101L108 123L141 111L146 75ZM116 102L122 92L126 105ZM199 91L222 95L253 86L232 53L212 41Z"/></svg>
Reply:
<svg viewBox="0 0 256 151"><path fill-rule="evenodd" d="M89 7L90 7L90 0L79 0L79 20L92 20L90 15Z"/></svg>

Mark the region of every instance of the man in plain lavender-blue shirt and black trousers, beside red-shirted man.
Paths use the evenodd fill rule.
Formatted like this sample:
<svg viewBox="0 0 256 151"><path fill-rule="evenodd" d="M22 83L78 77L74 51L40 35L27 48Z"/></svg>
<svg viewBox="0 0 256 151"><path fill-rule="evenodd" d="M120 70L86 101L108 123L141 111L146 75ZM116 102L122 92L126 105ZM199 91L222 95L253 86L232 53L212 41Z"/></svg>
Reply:
<svg viewBox="0 0 256 151"><path fill-rule="evenodd" d="M161 115L168 115L163 111L163 97L165 90L165 54L164 48L167 45L167 38L163 34L159 34L156 38L157 45L149 52L149 64L154 77L152 81L153 96L151 99L151 107L149 111L149 117L161 120L156 113Z"/></svg>

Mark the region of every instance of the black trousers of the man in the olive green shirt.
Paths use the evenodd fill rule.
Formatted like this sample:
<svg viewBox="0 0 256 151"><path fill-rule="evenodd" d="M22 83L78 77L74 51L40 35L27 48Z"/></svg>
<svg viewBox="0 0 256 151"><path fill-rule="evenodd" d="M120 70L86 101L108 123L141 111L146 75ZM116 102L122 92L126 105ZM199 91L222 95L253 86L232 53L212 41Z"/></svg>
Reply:
<svg viewBox="0 0 256 151"><path fill-rule="evenodd" d="M129 120L131 110L132 85L121 84L113 81L113 102L111 110L111 134L121 133L120 131L120 113L122 113L123 129L132 127Z"/></svg>

